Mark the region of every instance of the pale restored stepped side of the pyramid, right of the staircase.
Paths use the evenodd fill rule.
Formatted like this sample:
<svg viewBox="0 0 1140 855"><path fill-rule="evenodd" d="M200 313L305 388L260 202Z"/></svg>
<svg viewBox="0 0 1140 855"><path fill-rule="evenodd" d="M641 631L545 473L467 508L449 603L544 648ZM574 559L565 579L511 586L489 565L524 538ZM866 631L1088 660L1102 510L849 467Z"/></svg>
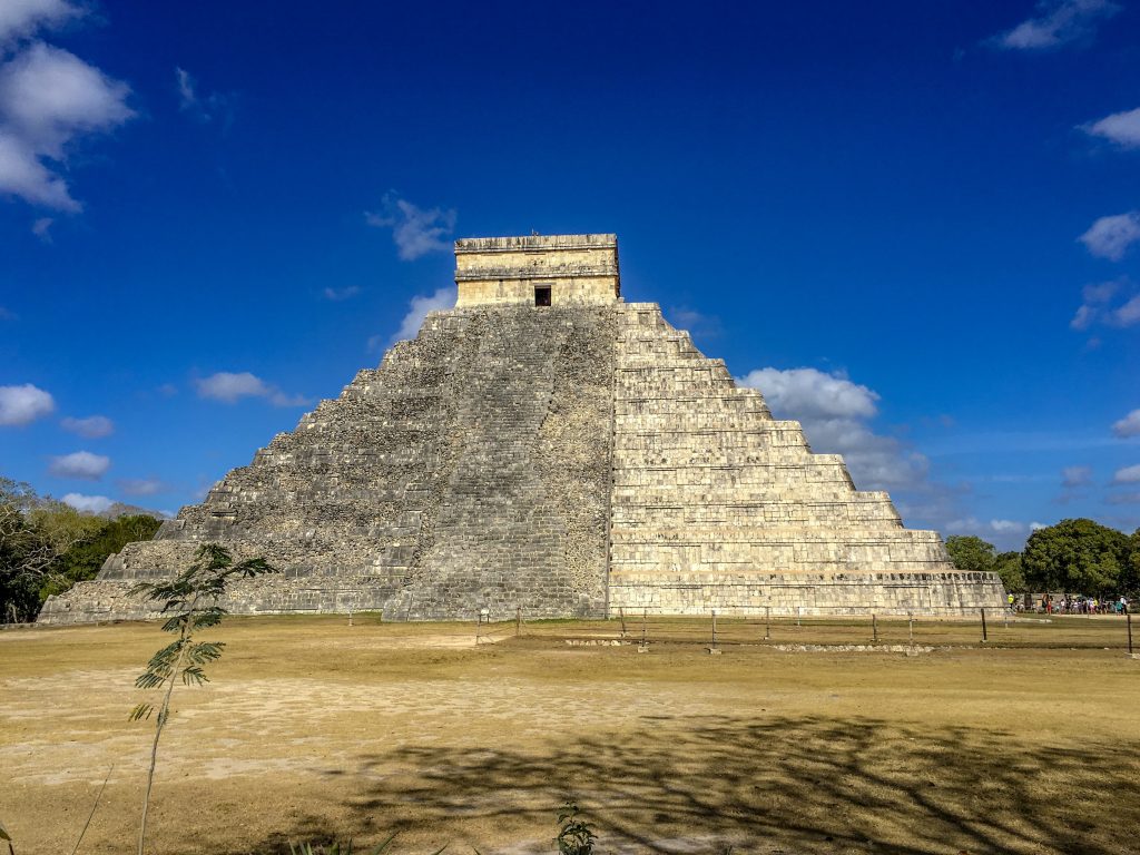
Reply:
<svg viewBox="0 0 1140 855"><path fill-rule="evenodd" d="M961 613L1002 608L937 532L857 491L653 303L619 310L610 610Z"/></svg>

